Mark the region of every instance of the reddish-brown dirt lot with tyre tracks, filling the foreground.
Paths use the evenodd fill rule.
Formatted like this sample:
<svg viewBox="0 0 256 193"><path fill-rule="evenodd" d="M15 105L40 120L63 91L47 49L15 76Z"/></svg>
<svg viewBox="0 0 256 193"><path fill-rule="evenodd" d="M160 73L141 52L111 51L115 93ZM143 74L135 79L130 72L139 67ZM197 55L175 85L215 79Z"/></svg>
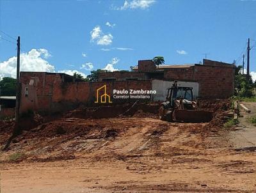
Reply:
<svg viewBox="0 0 256 193"><path fill-rule="evenodd" d="M256 192L256 152L221 128L228 105L202 104L210 123L161 121L157 106L36 118L1 152L1 192ZM1 125L3 147L13 123Z"/></svg>

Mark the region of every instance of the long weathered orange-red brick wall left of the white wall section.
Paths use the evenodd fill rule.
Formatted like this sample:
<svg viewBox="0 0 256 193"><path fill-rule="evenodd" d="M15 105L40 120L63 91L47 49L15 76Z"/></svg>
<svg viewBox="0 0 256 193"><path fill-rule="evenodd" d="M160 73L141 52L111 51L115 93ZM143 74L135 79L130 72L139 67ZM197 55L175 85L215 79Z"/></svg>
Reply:
<svg viewBox="0 0 256 193"><path fill-rule="evenodd" d="M38 75L38 81L29 84ZM124 100L113 99L113 89L151 89L150 80L147 81L115 81L115 82L63 82L61 76L51 73L20 73L22 93L20 112L28 109L33 111L60 112L74 109L80 104L95 104L96 91L106 84L107 93L111 95L113 103ZM24 89L29 88L29 95L24 95ZM129 100L133 101L133 100Z"/></svg>

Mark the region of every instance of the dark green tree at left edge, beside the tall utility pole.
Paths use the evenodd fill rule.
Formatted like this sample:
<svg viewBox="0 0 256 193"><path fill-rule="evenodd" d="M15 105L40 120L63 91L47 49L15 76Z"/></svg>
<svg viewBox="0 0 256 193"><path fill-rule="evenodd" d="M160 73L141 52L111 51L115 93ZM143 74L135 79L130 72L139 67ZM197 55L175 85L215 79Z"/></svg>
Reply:
<svg viewBox="0 0 256 193"><path fill-rule="evenodd" d="M16 95L16 79L11 77L4 77L0 81L1 96L15 96Z"/></svg>

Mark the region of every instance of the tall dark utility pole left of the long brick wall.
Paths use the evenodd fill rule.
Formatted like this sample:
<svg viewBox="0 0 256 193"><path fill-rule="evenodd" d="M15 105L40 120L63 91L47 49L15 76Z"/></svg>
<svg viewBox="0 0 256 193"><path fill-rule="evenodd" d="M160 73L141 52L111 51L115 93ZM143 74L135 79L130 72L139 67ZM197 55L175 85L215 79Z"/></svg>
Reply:
<svg viewBox="0 0 256 193"><path fill-rule="evenodd" d="M20 109L20 36L17 40L17 84L16 84L16 108L15 120L17 125L16 132L19 131L19 109Z"/></svg>

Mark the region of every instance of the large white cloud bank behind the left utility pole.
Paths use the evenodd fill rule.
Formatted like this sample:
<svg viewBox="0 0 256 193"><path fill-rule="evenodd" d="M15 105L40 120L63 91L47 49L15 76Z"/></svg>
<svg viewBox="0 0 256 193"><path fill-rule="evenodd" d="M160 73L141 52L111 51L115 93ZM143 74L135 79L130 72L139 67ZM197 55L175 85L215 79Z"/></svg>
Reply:
<svg viewBox="0 0 256 193"><path fill-rule="evenodd" d="M31 49L20 54L20 71L54 72L54 66L45 59L51 54L46 49ZM0 63L0 77L16 78L17 57L13 56Z"/></svg>

